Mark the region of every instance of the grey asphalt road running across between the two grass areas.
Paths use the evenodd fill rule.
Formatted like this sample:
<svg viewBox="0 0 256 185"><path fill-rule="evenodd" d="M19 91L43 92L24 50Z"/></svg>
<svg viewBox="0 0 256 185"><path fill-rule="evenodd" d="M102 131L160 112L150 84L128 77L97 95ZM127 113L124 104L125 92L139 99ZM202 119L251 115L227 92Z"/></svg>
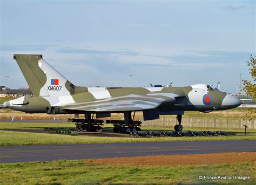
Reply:
<svg viewBox="0 0 256 185"><path fill-rule="evenodd" d="M255 140L0 147L0 163L146 155L256 152Z"/></svg>

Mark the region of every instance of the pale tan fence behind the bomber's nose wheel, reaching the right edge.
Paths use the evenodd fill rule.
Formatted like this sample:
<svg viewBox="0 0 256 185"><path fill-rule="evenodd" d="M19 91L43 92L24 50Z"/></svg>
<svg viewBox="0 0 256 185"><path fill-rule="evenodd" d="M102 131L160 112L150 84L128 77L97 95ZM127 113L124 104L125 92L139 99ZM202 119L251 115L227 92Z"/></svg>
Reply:
<svg viewBox="0 0 256 185"><path fill-rule="evenodd" d="M157 120L144 121L143 116L139 116L139 121L143 122L142 126L147 127L174 127L178 124L176 118L160 117ZM240 118L182 118L183 127L200 127L200 128L229 128L240 129L247 125L248 128L256 129L256 118L244 120Z"/></svg>

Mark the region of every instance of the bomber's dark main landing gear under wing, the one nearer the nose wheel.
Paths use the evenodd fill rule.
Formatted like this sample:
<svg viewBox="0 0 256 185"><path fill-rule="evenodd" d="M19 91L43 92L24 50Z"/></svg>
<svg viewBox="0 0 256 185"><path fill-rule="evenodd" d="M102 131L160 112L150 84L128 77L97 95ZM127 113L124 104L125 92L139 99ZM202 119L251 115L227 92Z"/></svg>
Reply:
<svg viewBox="0 0 256 185"><path fill-rule="evenodd" d="M113 124L113 132L129 134L131 132L141 131L139 128L141 121L134 121L135 112L132 117L132 112L124 112L124 120L106 120L107 124Z"/></svg>

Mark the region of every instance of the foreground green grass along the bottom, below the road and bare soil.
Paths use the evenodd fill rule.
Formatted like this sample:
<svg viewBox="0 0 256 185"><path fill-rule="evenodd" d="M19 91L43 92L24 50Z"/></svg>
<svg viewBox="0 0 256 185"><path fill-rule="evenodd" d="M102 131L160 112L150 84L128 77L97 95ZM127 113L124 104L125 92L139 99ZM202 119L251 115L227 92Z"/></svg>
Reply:
<svg viewBox="0 0 256 185"><path fill-rule="evenodd" d="M0 184L255 184L255 170L255 162L135 166L60 160L1 164ZM250 180L199 180L200 175L250 176Z"/></svg>

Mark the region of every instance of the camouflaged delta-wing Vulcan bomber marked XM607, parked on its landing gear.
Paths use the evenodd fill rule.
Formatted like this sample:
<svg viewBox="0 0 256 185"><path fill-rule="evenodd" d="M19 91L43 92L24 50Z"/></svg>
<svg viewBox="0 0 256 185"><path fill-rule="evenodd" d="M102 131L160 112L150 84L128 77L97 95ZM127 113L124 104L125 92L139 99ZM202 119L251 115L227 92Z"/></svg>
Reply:
<svg viewBox="0 0 256 185"><path fill-rule="evenodd" d="M102 131L99 125L111 113L123 113L124 120L107 120L114 132L140 131L135 112L143 112L144 120L159 115L177 115L176 131L181 131L185 111L208 113L238 107L242 101L207 84L186 87L79 87L73 85L41 54L14 54L19 68L33 93L5 101L4 108L26 113L75 114L77 131ZM132 116L133 113L133 116ZM79 119L84 114L85 119ZM93 119L96 115L97 119Z"/></svg>

